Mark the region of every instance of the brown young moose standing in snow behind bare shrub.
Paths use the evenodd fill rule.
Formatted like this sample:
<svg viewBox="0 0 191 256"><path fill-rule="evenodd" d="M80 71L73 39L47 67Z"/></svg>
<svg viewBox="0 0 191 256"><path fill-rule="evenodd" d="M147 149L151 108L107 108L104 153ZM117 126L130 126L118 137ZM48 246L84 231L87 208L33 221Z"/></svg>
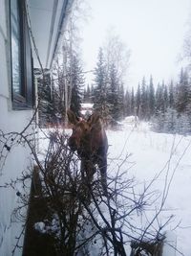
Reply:
<svg viewBox="0 0 191 256"><path fill-rule="evenodd" d="M72 110L68 110L67 114L70 123L73 124L69 147L72 151L77 151L81 159L82 176L86 175L91 182L97 164L103 190L106 192L108 140L101 118L97 113L94 113L86 121L76 117Z"/></svg>

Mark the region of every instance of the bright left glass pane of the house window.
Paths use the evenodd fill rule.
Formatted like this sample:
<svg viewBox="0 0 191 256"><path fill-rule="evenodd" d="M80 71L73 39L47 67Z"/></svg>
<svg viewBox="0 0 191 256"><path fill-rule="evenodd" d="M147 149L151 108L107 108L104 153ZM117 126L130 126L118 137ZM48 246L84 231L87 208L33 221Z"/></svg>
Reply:
<svg viewBox="0 0 191 256"><path fill-rule="evenodd" d="M17 0L11 0L11 69L13 93L22 95L21 85L21 21Z"/></svg>

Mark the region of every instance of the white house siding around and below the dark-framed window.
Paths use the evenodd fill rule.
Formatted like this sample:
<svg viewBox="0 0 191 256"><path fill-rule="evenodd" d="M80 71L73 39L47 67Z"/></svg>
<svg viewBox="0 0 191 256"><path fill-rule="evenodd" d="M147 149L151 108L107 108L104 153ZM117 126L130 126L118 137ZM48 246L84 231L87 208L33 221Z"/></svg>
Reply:
<svg viewBox="0 0 191 256"><path fill-rule="evenodd" d="M32 110L12 110L11 107L11 43L9 1L0 0L0 129L3 132L21 131L32 118ZM0 141L0 151L4 145ZM19 177L32 166L30 150L25 146L15 146L4 158L0 155L0 186ZM2 166L3 165L3 166ZM22 190L22 185L17 191ZM20 235L22 222L15 222L12 212L18 206L16 191L0 187L0 255L11 256L16 244L15 237ZM20 241L22 244L22 239ZM17 249L14 256L20 256Z"/></svg>

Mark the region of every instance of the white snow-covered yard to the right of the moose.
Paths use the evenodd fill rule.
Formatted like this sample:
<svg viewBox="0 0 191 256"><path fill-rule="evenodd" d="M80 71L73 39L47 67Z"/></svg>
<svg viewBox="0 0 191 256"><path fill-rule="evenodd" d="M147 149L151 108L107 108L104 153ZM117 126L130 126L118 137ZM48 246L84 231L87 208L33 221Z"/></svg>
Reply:
<svg viewBox="0 0 191 256"><path fill-rule="evenodd" d="M126 172L125 178L135 178L136 193L149 185L150 192L160 195L148 207L146 217L139 218L138 225L152 220L161 199L166 197L157 221L161 225L173 216L162 232L170 233L174 241L169 244L176 246L177 251L164 255L191 256L191 136L156 133L145 123L137 128L126 124L119 130L107 130L107 135L108 177L116 175L118 166L129 155L120 172Z"/></svg>

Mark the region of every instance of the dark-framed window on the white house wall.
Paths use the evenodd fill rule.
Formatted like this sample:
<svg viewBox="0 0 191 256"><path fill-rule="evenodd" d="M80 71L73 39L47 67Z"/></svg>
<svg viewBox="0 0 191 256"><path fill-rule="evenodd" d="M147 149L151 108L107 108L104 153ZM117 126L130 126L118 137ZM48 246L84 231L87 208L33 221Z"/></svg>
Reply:
<svg viewBox="0 0 191 256"><path fill-rule="evenodd" d="M25 1L11 0L11 89L15 109L32 108L32 48Z"/></svg>

